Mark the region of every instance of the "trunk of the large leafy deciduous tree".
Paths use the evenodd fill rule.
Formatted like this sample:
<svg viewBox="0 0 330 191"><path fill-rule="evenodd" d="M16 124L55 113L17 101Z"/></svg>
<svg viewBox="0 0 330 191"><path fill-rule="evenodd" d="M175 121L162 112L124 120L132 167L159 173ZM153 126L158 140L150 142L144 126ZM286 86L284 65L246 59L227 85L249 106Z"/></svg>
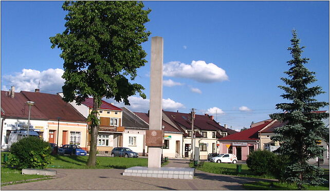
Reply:
<svg viewBox="0 0 330 191"><path fill-rule="evenodd" d="M93 111L98 110L97 99L93 99ZM97 112L94 113L97 117ZM89 148L89 156L87 161L87 166L95 166L96 163L96 152L97 152L97 137L99 132L99 125L90 127L90 148Z"/></svg>

